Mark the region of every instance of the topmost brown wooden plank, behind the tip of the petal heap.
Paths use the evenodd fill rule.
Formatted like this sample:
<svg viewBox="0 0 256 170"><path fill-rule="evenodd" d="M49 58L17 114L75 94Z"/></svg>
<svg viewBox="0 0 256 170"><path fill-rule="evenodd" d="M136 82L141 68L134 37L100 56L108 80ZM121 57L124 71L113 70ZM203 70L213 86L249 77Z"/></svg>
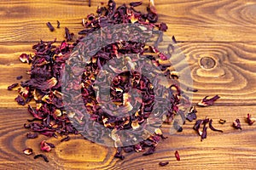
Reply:
<svg viewBox="0 0 256 170"><path fill-rule="evenodd" d="M77 33L82 30L81 19L95 13L100 0L92 1L3 1L0 13L0 42L35 42L39 39L61 41L64 27ZM121 0L116 1L123 3ZM125 3L132 2L132 0ZM255 42L256 3L253 0L224 1L168 1L155 2L160 22L169 26L167 35L175 35L180 42ZM139 9L145 8L144 3ZM45 23L61 29L50 32Z"/></svg>

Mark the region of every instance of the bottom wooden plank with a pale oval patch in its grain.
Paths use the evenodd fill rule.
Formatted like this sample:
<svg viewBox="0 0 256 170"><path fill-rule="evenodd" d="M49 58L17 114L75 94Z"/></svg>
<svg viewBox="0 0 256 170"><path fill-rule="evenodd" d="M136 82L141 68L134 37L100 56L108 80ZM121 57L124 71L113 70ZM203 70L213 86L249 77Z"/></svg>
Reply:
<svg viewBox="0 0 256 170"><path fill-rule="evenodd" d="M244 121L247 112L254 113L256 106L210 106L198 108L199 119L212 118L216 128L224 130L217 133L208 130L207 139L200 137L192 129L195 122L187 122L182 133L169 133L169 125L162 127L168 139L161 140L156 153L142 156L142 153L125 154L125 160L113 158L115 150L102 145L92 144L79 136L61 143L61 139L48 139L39 135L38 139L26 139L27 129L23 123L31 116L25 109L0 109L0 167L4 169L162 169L160 161L170 161L168 169L253 169L255 167L256 125L248 126ZM254 115L254 114L253 114ZM224 118L224 125L218 119ZM231 127L233 120L240 118L242 130ZM31 147L36 154L42 153L38 143L46 139L54 143L56 148L49 153L49 163L33 160L33 156L25 156L22 150ZM181 161L176 161L175 150L179 151Z"/></svg>

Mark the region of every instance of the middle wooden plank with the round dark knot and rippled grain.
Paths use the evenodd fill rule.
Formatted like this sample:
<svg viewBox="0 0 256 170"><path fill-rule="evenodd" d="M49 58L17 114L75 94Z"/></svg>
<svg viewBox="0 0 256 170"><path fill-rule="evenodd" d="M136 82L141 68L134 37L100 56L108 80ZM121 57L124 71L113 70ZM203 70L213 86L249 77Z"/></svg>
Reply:
<svg viewBox="0 0 256 170"><path fill-rule="evenodd" d="M26 71L30 65L19 60L22 53L33 53L33 43L0 44L0 107L20 107L15 103L17 93L7 87L29 77ZM186 55L189 67L179 72L181 80L192 75L193 87L199 91L193 94L198 102L206 95L219 94L216 105L255 105L256 101L256 43L243 42L183 42L179 48ZM191 84L185 84L191 86Z"/></svg>

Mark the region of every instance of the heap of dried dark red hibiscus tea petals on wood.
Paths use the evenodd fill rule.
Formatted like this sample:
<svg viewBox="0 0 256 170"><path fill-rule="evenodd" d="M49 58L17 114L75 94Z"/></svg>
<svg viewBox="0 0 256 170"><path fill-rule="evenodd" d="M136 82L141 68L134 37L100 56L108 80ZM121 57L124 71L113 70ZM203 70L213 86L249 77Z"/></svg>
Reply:
<svg viewBox="0 0 256 170"><path fill-rule="evenodd" d="M108 132L111 132L111 139L113 139L114 146L117 148L114 157L124 159L125 156L122 155L122 150L125 152L143 152L143 156L148 156L154 153L160 139L166 139L160 128L155 128L153 133L148 132L146 126L150 124L149 122L152 122L151 124L154 124L155 127L160 127L161 122L170 123L176 115L182 116L183 123L185 122L186 116L184 111L179 109L179 106L190 106L189 99L178 86L177 79L179 77L177 72L169 70L172 65L165 63L172 56L175 48L170 44L168 46L168 54L161 53L160 49L158 49L160 42L163 41L162 31L166 31L168 26L166 23L157 23L158 14L153 0L150 0L146 13L135 9L141 4L142 2L135 2L131 3L130 6L122 4L118 7L113 0L109 0L108 7L99 6L96 10L97 14L89 14L86 19L82 20L84 30L79 31L79 35L82 36L75 42L68 43L73 41L74 34L70 33L66 27L65 37L67 42L63 41L60 45L55 45L56 40L51 42L40 41L32 46L35 54L20 55L20 60L32 64L32 67L28 71L30 79L20 83L19 96L15 100L20 105L26 105L32 99L36 103L35 107L28 105L28 112L33 119L28 120L24 127L34 133L28 133L27 138L36 138L38 133L55 138L67 136L61 139L62 142L70 139L69 134L82 134L92 141L102 143L102 136L105 134L103 127L106 127ZM57 27L60 27L60 22L57 21L57 24ZM110 30L108 32L106 29L106 27L119 24L135 24L135 28L137 26L143 31L133 31L136 33L136 36L133 36L135 37L134 41L119 40L99 48L97 53L93 54L91 59L84 65L81 80L78 83L65 83L65 78L68 76L63 75L64 68L68 69L67 63L72 63L73 50L79 46L79 42L83 42L84 37L90 37L96 31L101 31L102 35L99 39L103 37L110 39L120 37L117 34L119 31ZM47 26L50 31L54 31L54 27L49 22ZM136 41L143 34L147 34L147 29L159 32L159 37L154 45L148 45L144 40ZM155 29L158 29L158 31ZM121 31L121 33L122 36L131 37L127 32L126 35L125 31ZM95 50L94 48L96 48L97 44L96 37L94 39L95 42L85 44L93 50ZM172 37L172 41L177 42L175 37ZM84 51L86 50L84 49ZM130 54L136 55L131 58ZM151 81L151 79L149 80L148 77L138 71L123 71L119 69L115 59L121 58L122 55L125 56L125 62L130 70L138 66L141 70L146 69L146 72L149 72L151 77L160 77L160 74L163 74L173 83L168 84L168 87L164 87L157 78L153 78L153 81ZM144 56L144 58L140 55ZM105 87L108 77L101 77L100 75L100 71L108 62L112 62L112 65L108 67L108 72L113 71L117 74L111 80L110 89ZM79 72L79 68L73 66L70 68L71 72L76 77L78 76L76 73ZM103 82L98 86L98 90L101 93L96 93L94 89L96 88L97 77ZM70 89L71 93L62 92L63 88ZM73 93L75 89L79 89L79 95ZM128 93L130 89L135 90L136 94L141 95L142 98L140 99L137 96L133 98ZM109 91L110 100L117 107L109 105L109 102L104 102L104 95L108 94L107 92ZM75 108L74 112L68 112L63 104L64 96L75 100L82 96L84 104L79 103L78 105L84 105L90 114L84 114L79 110L79 107ZM165 96L165 98L160 98L162 96ZM208 104L211 101L205 99ZM100 104L105 105L107 109L103 110ZM157 108L156 104L160 105L160 108ZM135 110L136 107L134 105L138 105L137 110ZM65 106L73 107L73 105ZM119 106L125 106L121 107L121 110L125 111L126 116L119 117L114 115L119 112ZM163 107L165 111L160 113ZM196 119L195 112L195 109L189 112L189 120ZM89 121L84 122L84 120L90 120L91 123ZM124 137L118 133L119 130L125 129L131 129L131 133L128 133L127 136L131 137L129 139L133 140L134 144L125 145ZM183 128L177 123L176 130L181 132ZM143 135L138 135L141 133ZM40 149L47 152L54 147L54 144L47 143L45 140L40 143ZM178 156L178 153L176 155ZM47 157L42 154L34 158L38 157L43 157L45 161L48 161Z"/></svg>

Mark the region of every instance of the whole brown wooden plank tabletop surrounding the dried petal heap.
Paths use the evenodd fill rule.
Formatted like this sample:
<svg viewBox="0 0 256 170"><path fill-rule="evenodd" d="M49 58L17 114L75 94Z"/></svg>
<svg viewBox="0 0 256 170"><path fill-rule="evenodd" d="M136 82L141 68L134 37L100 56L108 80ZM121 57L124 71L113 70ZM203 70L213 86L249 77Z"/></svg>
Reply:
<svg viewBox="0 0 256 170"><path fill-rule="evenodd" d="M198 118L208 116L224 133L208 131L201 142L192 129L194 122L183 126L161 141L156 153L127 154L124 161L114 159L115 150L92 144L79 137L61 143L60 139L26 139L23 128L31 118L26 107L15 103L16 91L6 88L15 78L28 78L30 65L20 63L21 53L32 53L32 44L64 39L64 27L78 32L86 14L95 13L99 0L33 0L0 2L0 169L163 169L158 163L170 161L166 169L255 169L256 124L248 126L247 113L256 116L256 1L255 0L156 0L159 20L168 24L168 36L174 35L188 59L196 103L206 95L219 94L215 105L198 108ZM129 1L117 1L118 4ZM143 9L146 3L139 7ZM45 23L61 29L50 32ZM200 60L203 59L203 62ZM219 118L226 119L224 125ZM231 127L240 118L242 130ZM164 129L167 126L164 126ZM25 156L22 150L32 147L39 153L38 143L47 139L56 148L46 154L49 163ZM176 161L178 150L181 161Z"/></svg>

